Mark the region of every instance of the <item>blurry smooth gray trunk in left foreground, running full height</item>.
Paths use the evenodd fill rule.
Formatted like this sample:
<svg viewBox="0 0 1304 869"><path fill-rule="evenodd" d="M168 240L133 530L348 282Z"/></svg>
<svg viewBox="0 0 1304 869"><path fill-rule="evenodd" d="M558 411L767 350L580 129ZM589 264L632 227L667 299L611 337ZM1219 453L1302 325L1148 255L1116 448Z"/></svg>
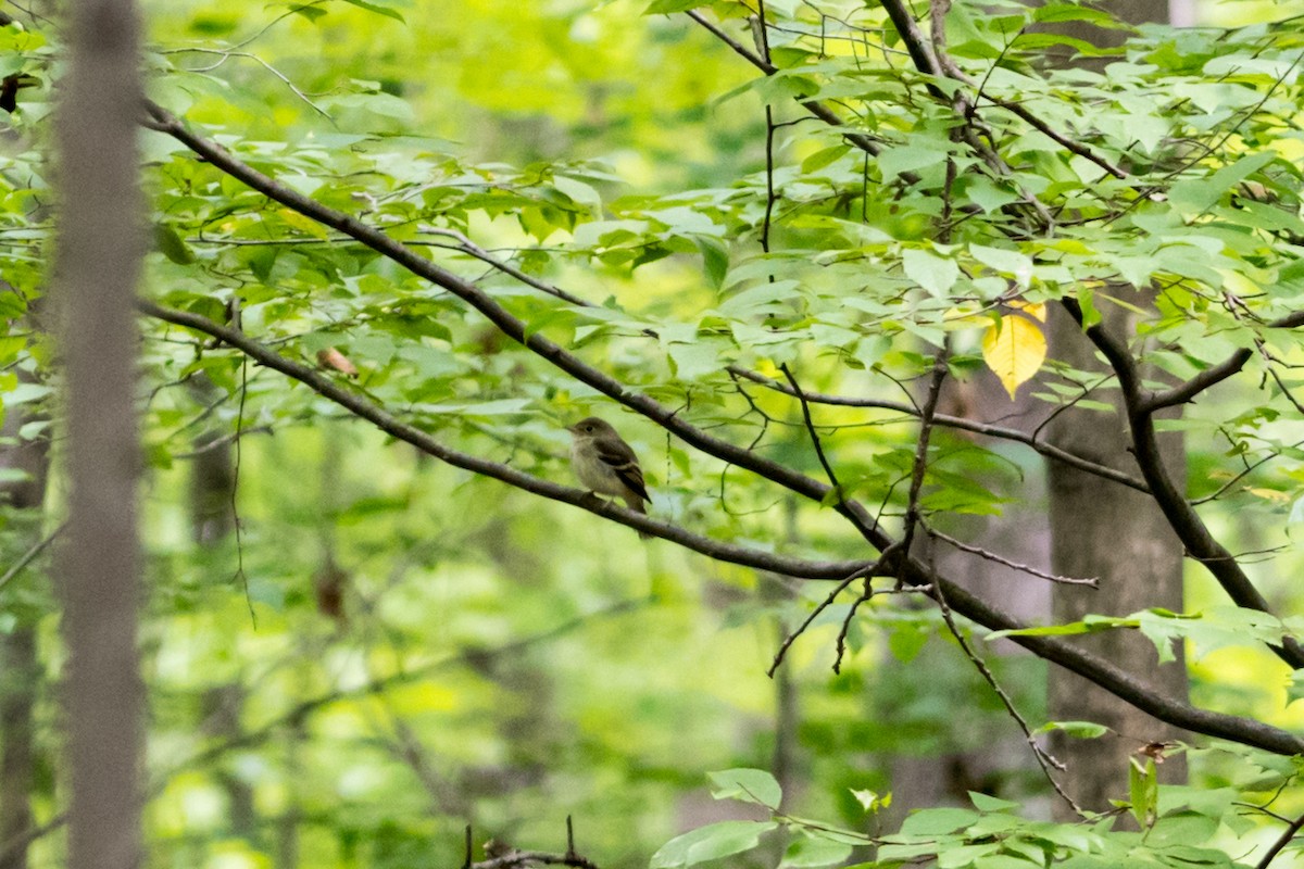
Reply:
<svg viewBox="0 0 1304 869"><path fill-rule="evenodd" d="M82 0L68 9L68 73L55 122L53 280L70 478L57 584L68 650L68 865L137 869L143 697L136 649L140 26L130 0Z"/></svg>

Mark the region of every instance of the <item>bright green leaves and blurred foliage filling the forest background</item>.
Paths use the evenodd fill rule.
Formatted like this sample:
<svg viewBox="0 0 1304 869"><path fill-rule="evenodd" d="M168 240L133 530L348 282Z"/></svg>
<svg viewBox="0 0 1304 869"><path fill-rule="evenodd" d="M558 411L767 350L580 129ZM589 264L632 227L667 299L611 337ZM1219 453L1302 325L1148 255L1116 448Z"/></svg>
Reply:
<svg viewBox="0 0 1304 869"><path fill-rule="evenodd" d="M739 4L712 5L746 43ZM998 135L1015 177L965 163L947 108L915 102L918 82L900 72L880 10L828 4L820 17L808 4L767 5L781 66L773 77L758 77L682 16L644 16L629 0L154 0L145 4L149 90L256 168L480 280L532 330L632 388L815 476L794 404L745 393L726 363L776 374L799 362L812 388L900 399L895 383L927 370L927 348L948 332L955 371L981 370L979 330L952 323L957 306L991 310L1012 281L1055 300L1108 272L1137 284L1179 279L1151 323L1149 358L1189 377L1297 306L1299 241L1274 248L1282 236L1264 235L1304 231L1304 143L1297 125L1283 124L1297 120L1297 22L1235 38L1146 31L1097 74L1041 69L1041 44L1003 51L1001 35L1026 23L1021 7L998 4L1001 14L985 17L986 7L956 4L949 42L962 63L987 64L996 91L1026 90L1052 126L1081 130L1142 175L1164 176L1183 147L1231 130L1235 141L1187 165L1166 199L1136 197L1102 229L1089 218L1133 188L1012 121ZM0 337L0 377L10 378L9 414L47 401L55 384L12 373L46 378L51 361L23 317L48 279L56 36L0 29L4 72L40 82L21 91L5 130L0 237L16 292L0 296L13 324ZM871 42L885 48L870 57ZM802 120L794 96L861 107L883 152L871 165L841 132ZM765 102L792 116L776 151L782 195L772 227ZM1254 111L1241 121L1245 109ZM353 388L404 420L468 452L569 478L562 425L604 408L596 392L447 293L176 142L147 133L142 149L155 229L146 294L218 321L237 307L249 334L295 358L338 350L359 370ZM939 188L948 158L962 163L953 193L973 219L940 245L941 198L900 195L895 185L915 177ZM1247 180L1284 206L1236 207ZM1055 238L1007 245L1001 208L1028 189L1085 218ZM1209 218L1200 232L1184 223L1192 214ZM769 254L763 227L773 229ZM459 250L463 236L592 306L554 304L488 270ZM1251 323L1204 292L1224 283L1254 306ZM1101 296L1095 304L1108 304ZM1300 362L1297 345L1271 340ZM1074 373L1061 374L1045 390L1050 401L1074 393ZM893 790L901 758L945 762L990 752L994 734L1020 739L931 610L865 607L833 675L848 610L831 607L789 654L785 687L765 670L824 588L640 546L629 529L438 465L184 330L145 326L142 377L151 866L452 866L464 859L466 825L477 846L492 836L559 852L567 816L580 852L604 868L642 866L652 855L661 866L726 857L831 865L865 857L866 836L889 833L883 865L939 852L949 855L939 865L987 869L1068 855L1076 866L1232 865L1227 853L1270 838L1234 800L1294 782L1279 758L1205 747L1192 753L1192 791L1154 797L1150 817L1162 818L1149 840L1021 818L1015 804L965 787L951 795L956 806L915 814L897 833L884 819L889 806L866 795ZM1270 550L1297 533L1304 465L1281 396L1251 388L1211 396L1180 425L1196 433L1193 498L1232 479L1241 456L1275 456L1210 511L1237 548ZM917 425L882 412L820 414L848 491L897 517ZM656 515L760 547L799 538L819 555L858 551L832 511L798 508L645 421L618 421ZM193 500L202 455L237 473L233 495L215 489L219 533L207 538L196 532ZM939 431L925 506L1000 513L1038 473L1005 447ZM55 486L51 515L59 496ZM223 504L236 508L239 533L222 526ZM12 562L26 537L8 521L14 539L0 542ZM1252 569L1290 610L1299 567L1291 550ZM3 627L40 633L43 821L64 804L53 769L61 655L47 585L33 571L0 591ZM1223 603L1198 571L1191 585L1191 611ZM1200 704L1301 724L1287 707L1288 674L1269 653L1197 650ZM990 663L1029 720L1042 722L1042 663ZM707 776L743 769L735 778L755 784L778 748L795 757L781 808L798 817L781 818L782 835L769 816L776 801L717 779L743 805L716 803ZM1028 758L995 762L975 787L1045 816L1047 787ZM1141 822L1145 774L1132 795ZM1294 795L1284 801L1283 812L1299 810ZM918 806L896 810L906 808ZM31 853L34 866L59 865L63 844L44 836Z"/></svg>

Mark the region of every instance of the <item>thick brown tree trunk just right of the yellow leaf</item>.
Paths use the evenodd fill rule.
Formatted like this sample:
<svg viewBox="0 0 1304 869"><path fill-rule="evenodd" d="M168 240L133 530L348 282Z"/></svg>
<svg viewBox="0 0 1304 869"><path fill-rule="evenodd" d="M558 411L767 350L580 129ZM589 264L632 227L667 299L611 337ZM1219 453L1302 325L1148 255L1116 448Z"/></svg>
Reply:
<svg viewBox="0 0 1304 869"><path fill-rule="evenodd" d="M1114 306L1114 315L1107 311L1106 319L1118 335L1133 330L1132 317L1121 307ZM1082 370L1103 370L1090 341L1063 310L1052 310L1051 345L1056 358ZM1136 473L1120 412L1072 408L1056 417L1050 436L1064 449ZM1159 440L1164 464L1180 472L1185 465L1181 436L1167 433ZM1056 586L1056 623L1078 621L1088 614L1127 615L1154 606L1181 610L1181 545L1149 495L1059 463L1051 464L1050 485L1055 572L1101 580L1099 590ZM1151 674L1151 684L1164 694L1185 698L1180 648L1175 649L1176 662L1161 667L1154 646L1136 632L1110 631L1080 641L1131 672ZM1111 797L1127 796L1128 758L1136 749L1178 736L1175 728L1060 668L1051 670L1050 714L1055 720L1093 720L1112 730L1098 740L1051 741L1056 757L1068 765L1067 790L1086 809L1108 809ZM1166 780L1185 778L1180 758L1159 769Z"/></svg>

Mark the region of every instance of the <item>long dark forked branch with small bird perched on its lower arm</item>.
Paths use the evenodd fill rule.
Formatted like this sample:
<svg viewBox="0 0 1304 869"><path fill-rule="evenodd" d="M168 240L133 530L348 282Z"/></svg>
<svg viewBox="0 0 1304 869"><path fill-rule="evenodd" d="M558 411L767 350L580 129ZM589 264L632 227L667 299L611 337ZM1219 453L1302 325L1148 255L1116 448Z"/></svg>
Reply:
<svg viewBox="0 0 1304 869"><path fill-rule="evenodd" d="M576 380L593 387L599 392L608 395L615 401L648 417L666 431L679 436L685 443L703 449L717 459L752 470L754 473L812 500L823 500L824 496L832 490L831 486L825 483L812 479L778 463L764 459L763 456L758 456L750 449L738 447L719 438L713 438L695 426L689 425L683 420L678 418L677 410L665 408L648 396L629 392L622 383L584 363L565 348L545 339L539 332L533 332L527 336L524 323L512 317L476 284L466 281L459 276L436 266L429 259L425 259L413 250L389 238L378 229L368 227L348 215L329 208L308 197L289 190L284 185L273 181L261 172L257 172L252 167L235 159L228 151L214 142L189 133L170 112L153 104L147 104L147 111L150 113L150 119L145 122L151 129L177 138L177 141L185 143L203 159L209 160L214 167L240 178L259 193L263 193L282 205L295 208L300 214L318 220L327 227L344 232L377 253L381 253L382 255L393 259L395 263L408 268L413 274L426 278L432 283L447 289L484 314L509 337L526 345L529 350L539 354L558 369L566 371ZM406 426L399 422L387 412L370 404L357 393L336 386L334 382L327 380L325 377L303 365L299 365L297 362L280 357L265 345L252 341L248 336L239 331L230 330L228 327L223 327L203 317L186 311L164 309L151 302L142 302L141 305L142 309L150 315L173 322L179 326L196 328L201 332L211 335L213 337L227 341L263 365L309 384L318 393L336 401L355 416L368 420L381 430L387 431L403 440L408 440L409 443L419 446L419 448L434 451L432 455L436 455L437 457L447 456L450 464L458 464L458 466L472 470L473 473L484 473L485 476L509 482L510 485L545 498L553 498L559 502L583 507L589 512L613 519L631 528L647 530L653 534L660 534L666 539L681 542L690 548L704 546L704 554L721 558L721 560L732 560L733 558L737 558L739 559L737 563L759 567L773 573L784 573L788 576L801 576L803 573L818 575L808 576L807 578L844 578L855 569L872 564L872 562L819 563L775 556L771 554L758 554L754 550L747 550L746 547L728 546L716 541L702 538L683 529L644 517L639 513L632 513L621 507L612 504L593 504L593 499L588 492L558 486L529 474L523 474L512 468L499 465L497 463L450 451L429 438L429 435L413 429L412 426ZM863 506L857 502L846 502L837 509L844 516L855 521L857 528L862 530L866 539L880 552L884 552L892 546L892 538L889 538L874 524L872 517L868 516ZM948 603L956 612L977 621L978 624L982 624L986 628L992 631L1004 631L1024 627L1018 623L1018 620L1013 619L1008 614L992 607L981 598L969 594L955 584L935 576L931 569L919 562L910 559L906 554L900 552L898 550L893 550L891 559L883 558L882 560L884 568L897 571L898 576L904 576L908 585L928 586L940 584L944 589L943 593L945 594ZM901 567L897 564L898 560L904 560L905 565ZM1012 640L1038 657L1077 672L1078 675L1114 693L1120 700L1176 727L1197 734L1228 739L1275 753L1304 753L1304 739L1300 739L1294 734L1254 719L1214 713L1191 706L1171 697L1166 697L1137 676L1121 670L1110 661L1076 649L1056 637L1013 637Z"/></svg>

